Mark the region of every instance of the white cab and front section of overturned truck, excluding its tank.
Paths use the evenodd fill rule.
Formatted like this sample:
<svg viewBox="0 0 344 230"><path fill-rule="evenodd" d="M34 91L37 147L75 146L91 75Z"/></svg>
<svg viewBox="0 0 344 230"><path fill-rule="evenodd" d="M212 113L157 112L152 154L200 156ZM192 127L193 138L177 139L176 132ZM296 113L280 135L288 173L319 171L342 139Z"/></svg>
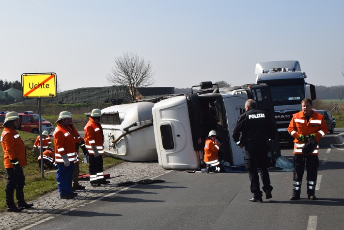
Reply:
<svg viewBox="0 0 344 230"><path fill-rule="evenodd" d="M165 169L199 170L204 167L204 141L215 130L222 143L220 161L244 165L245 149L236 146L232 132L245 102L254 99L257 107L275 120L268 85L252 84L213 89L212 82L192 86L191 93L157 102L153 109L158 163ZM193 93L193 87L208 89ZM210 90L209 90L210 89ZM278 138L278 137L277 137ZM278 140L278 139L277 139ZM279 142L270 145L271 166L281 155Z"/></svg>

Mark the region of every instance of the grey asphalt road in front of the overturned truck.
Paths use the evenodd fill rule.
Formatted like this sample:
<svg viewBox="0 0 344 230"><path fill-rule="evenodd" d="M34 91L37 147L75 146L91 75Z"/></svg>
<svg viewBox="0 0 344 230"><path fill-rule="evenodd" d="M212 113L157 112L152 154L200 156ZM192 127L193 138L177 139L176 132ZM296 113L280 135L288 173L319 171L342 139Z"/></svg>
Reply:
<svg viewBox="0 0 344 230"><path fill-rule="evenodd" d="M343 131L320 142L318 200L307 199L306 173L300 200L289 200L293 172L271 171L273 197L253 203L247 172L171 170L156 178L166 182L124 187L31 229L344 229L344 148L336 137ZM290 147L282 155L292 162Z"/></svg>

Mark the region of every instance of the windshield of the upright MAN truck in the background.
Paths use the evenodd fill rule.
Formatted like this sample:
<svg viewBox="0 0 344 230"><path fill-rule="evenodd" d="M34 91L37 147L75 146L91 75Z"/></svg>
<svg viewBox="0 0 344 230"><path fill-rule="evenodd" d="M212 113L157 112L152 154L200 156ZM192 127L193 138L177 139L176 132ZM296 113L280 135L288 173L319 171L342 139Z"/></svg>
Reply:
<svg viewBox="0 0 344 230"><path fill-rule="evenodd" d="M301 104L305 98L303 85L270 86L273 105Z"/></svg>

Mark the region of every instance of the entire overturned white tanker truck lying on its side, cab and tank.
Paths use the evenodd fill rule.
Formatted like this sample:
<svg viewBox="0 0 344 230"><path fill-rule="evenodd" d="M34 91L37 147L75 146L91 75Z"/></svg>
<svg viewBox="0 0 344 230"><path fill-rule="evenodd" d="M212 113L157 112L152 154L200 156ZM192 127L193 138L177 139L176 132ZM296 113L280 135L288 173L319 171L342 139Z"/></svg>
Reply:
<svg viewBox="0 0 344 230"><path fill-rule="evenodd" d="M216 86L214 89L213 87ZM193 92L194 87L201 87ZM245 150L232 139L247 99L275 121L271 93L266 84L219 88L212 82L192 86L191 93L162 99L157 103L138 102L102 110L104 150L126 161L158 160L165 169L199 170L203 163L204 141L211 130L222 143L220 160L244 165ZM276 136L268 152L271 166L281 155Z"/></svg>

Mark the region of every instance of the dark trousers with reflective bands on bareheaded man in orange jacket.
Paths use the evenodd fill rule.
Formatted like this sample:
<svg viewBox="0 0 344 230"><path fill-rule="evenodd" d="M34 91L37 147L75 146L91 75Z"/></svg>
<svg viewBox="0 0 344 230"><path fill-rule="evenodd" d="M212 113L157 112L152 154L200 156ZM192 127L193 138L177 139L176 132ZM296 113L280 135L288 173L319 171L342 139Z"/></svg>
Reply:
<svg viewBox="0 0 344 230"><path fill-rule="evenodd" d="M318 155L308 155L307 157L305 157L305 155L303 154L294 154L293 181L296 181L296 182L302 181L303 173L305 172L305 164L306 164L306 170L307 170L306 180L313 181L316 183L316 178L318 176L318 167L319 167ZM301 187L301 183L300 183L300 187ZM315 189L313 189L312 191L307 191L307 193L314 196L314 190ZM300 193L301 190L293 189L293 192Z"/></svg>

